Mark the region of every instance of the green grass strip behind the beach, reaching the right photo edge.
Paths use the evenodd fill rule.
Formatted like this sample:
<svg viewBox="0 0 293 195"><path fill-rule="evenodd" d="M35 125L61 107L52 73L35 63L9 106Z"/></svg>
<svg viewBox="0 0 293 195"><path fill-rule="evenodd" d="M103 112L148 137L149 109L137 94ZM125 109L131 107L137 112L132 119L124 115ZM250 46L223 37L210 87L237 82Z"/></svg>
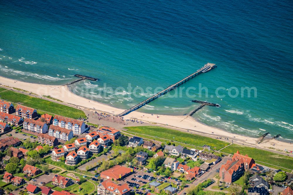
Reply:
<svg viewBox="0 0 293 195"><path fill-rule="evenodd" d="M249 157L253 158L254 160L259 160L265 163L270 163L273 165L285 167L287 169L293 169L293 158L277 153L273 153L267 150L261 150L257 148L251 148L247 146L240 146L237 144L232 144L224 148L223 152L234 154L239 150L240 153L243 155L248 155ZM261 164L261 163L260 163ZM268 165L270 166L270 165Z"/></svg>

